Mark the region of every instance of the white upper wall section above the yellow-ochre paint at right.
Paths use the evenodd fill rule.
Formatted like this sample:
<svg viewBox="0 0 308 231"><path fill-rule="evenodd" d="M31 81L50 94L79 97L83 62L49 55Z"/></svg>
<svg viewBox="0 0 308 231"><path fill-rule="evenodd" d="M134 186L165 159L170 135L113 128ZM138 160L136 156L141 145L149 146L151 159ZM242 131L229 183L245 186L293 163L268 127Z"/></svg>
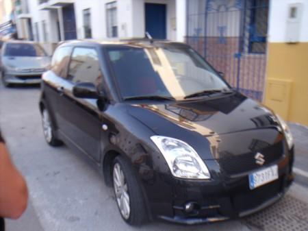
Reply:
<svg viewBox="0 0 308 231"><path fill-rule="evenodd" d="M268 41L286 42L286 27L288 5L301 3L302 17L300 21L300 35L298 42L308 42L308 1L307 0L271 0L270 1L270 22Z"/></svg>

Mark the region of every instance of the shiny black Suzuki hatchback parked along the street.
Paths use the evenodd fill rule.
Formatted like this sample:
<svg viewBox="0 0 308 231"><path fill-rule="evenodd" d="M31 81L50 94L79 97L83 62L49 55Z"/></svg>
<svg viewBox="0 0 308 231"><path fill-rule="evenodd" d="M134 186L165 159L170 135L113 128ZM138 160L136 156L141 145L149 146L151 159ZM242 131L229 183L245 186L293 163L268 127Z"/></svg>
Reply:
<svg viewBox="0 0 308 231"><path fill-rule="evenodd" d="M243 217L293 180L286 123L188 45L64 42L42 80L47 143L87 156L131 225Z"/></svg>

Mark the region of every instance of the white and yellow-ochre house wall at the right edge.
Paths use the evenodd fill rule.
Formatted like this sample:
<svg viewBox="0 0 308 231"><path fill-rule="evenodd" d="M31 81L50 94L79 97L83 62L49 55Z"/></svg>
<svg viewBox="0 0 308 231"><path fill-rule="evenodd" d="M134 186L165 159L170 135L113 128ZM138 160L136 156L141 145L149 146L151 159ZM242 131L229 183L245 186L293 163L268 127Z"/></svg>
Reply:
<svg viewBox="0 0 308 231"><path fill-rule="evenodd" d="M299 42L286 42L287 8L303 3ZM272 0L265 104L287 121L308 125L308 1Z"/></svg>

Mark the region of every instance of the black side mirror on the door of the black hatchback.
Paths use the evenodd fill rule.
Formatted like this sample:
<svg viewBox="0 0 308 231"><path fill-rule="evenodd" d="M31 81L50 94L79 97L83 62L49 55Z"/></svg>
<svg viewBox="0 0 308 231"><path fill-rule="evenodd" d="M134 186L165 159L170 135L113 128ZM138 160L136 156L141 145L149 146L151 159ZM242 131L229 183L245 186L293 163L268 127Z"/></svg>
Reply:
<svg viewBox="0 0 308 231"><path fill-rule="evenodd" d="M73 87L73 95L78 98L99 99L96 86L90 82L79 82Z"/></svg>

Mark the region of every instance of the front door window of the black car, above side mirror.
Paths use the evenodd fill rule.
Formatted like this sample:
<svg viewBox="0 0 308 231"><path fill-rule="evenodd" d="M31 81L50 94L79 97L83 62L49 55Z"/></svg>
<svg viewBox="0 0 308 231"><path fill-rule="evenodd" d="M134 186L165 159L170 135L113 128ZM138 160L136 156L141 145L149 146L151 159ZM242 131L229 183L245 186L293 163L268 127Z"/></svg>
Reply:
<svg viewBox="0 0 308 231"><path fill-rule="evenodd" d="M95 49L75 47L70 59L68 80L99 84L101 81L101 69L99 56Z"/></svg>

